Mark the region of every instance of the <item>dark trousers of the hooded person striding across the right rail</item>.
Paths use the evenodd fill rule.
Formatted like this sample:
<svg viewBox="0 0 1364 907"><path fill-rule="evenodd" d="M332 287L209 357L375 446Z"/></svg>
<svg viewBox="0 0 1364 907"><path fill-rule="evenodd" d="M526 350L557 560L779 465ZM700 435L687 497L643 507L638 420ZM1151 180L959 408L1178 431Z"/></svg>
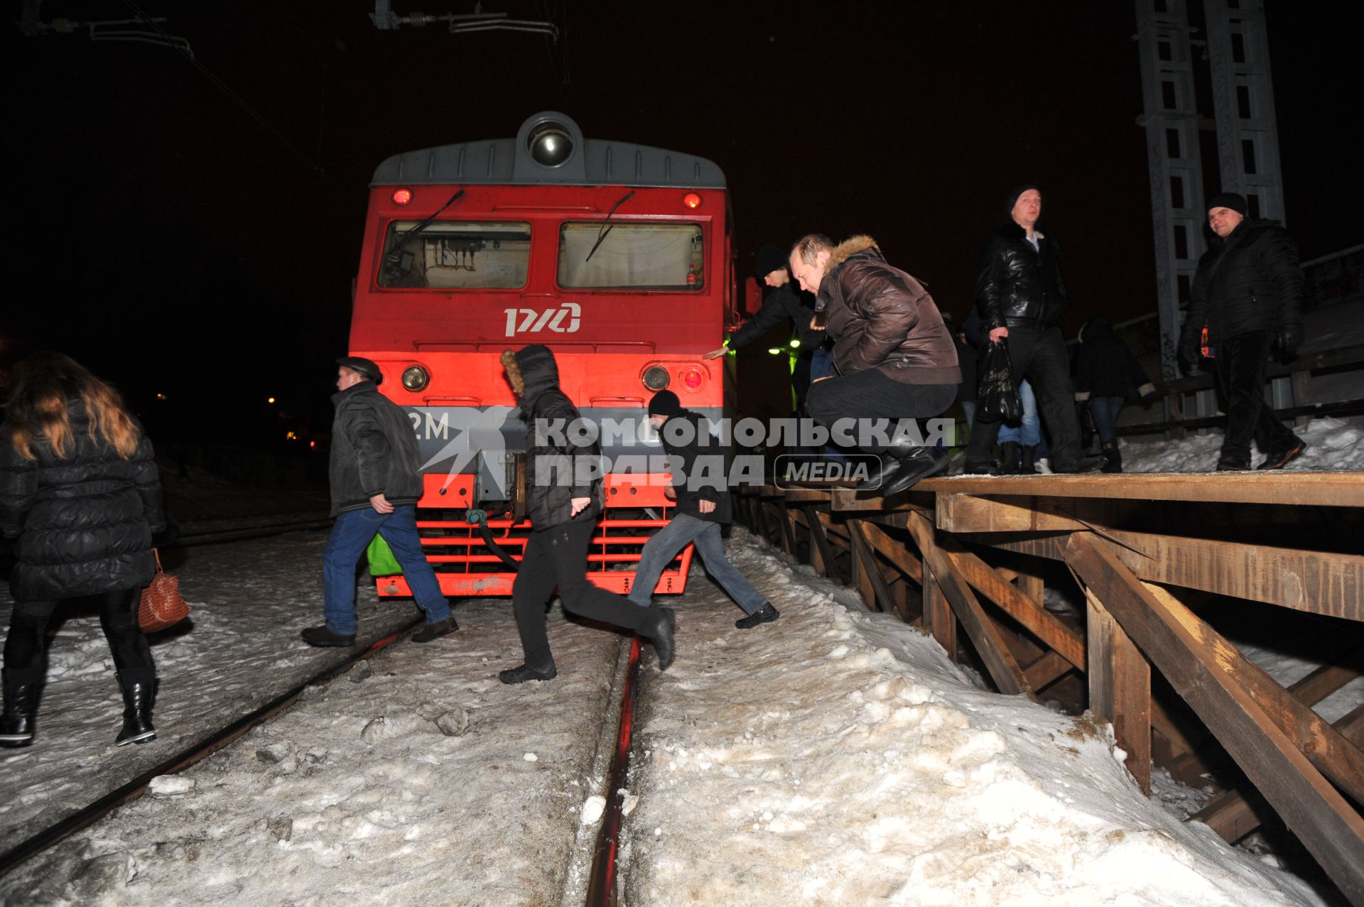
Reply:
<svg viewBox="0 0 1364 907"><path fill-rule="evenodd" d="M521 569L512 584L512 608L516 626L521 631L521 649L532 668L554 664L550 640L544 631L544 603L554 586L559 586L563 610L581 614L592 621L614 623L641 636L651 636L659 612L641 608L629 599L592 585L587 577L588 543L592 541L593 522L569 522L532 532L525 546Z"/></svg>

